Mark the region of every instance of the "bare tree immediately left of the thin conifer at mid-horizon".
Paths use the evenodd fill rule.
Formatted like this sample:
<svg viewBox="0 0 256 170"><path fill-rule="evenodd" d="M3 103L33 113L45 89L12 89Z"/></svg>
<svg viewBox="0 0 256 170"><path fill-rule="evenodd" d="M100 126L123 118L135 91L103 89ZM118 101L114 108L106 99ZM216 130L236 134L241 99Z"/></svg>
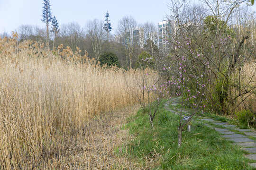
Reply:
<svg viewBox="0 0 256 170"><path fill-rule="evenodd" d="M107 33L103 29L103 21L94 19L86 24L86 33L91 40L93 53L96 59L99 59L107 41Z"/></svg>

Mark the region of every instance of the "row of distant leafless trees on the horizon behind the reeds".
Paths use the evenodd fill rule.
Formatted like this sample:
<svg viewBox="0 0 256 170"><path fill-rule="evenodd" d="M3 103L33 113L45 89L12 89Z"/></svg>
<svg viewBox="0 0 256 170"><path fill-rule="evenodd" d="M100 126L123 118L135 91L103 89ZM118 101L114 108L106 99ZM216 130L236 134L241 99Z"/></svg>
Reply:
<svg viewBox="0 0 256 170"><path fill-rule="evenodd" d="M119 25L123 24L125 26L126 23L121 22L126 22L127 18L134 20L132 17L123 17ZM159 51L158 47L154 44L154 40L145 31L141 36L145 37L145 39L147 38L146 41L143 44L133 44L131 42L124 43L124 41L120 40L120 37L128 39L128 36L126 37L127 34L125 34L128 30L121 30L119 28L118 34L110 34L110 32L104 30L104 22L99 19L88 21L84 27L80 26L77 22L69 22L58 26L55 24L57 22L55 17L53 17L52 22L52 28L49 31L49 41L47 41L46 28L21 25L16 30L19 42L31 39L45 44L48 43L51 50L57 49L58 45L63 44L64 48L70 46L73 52L76 51L76 47L79 47L81 55L84 55L87 51L90 58L97 60L104 52L113 52L118 56L120 66L123 68L135 67L141 51L148 51L150 54ZM135 20L134 22L136 23ZM137 23L128 29L132 29L135 26L137 26ZM156 26L152 23L147 22L141 27L144 30L148 27L147 29L157 32ZM8 34L5 33L4 36L8 36ZM153 48L151 48L152 46Z"/></svg>

